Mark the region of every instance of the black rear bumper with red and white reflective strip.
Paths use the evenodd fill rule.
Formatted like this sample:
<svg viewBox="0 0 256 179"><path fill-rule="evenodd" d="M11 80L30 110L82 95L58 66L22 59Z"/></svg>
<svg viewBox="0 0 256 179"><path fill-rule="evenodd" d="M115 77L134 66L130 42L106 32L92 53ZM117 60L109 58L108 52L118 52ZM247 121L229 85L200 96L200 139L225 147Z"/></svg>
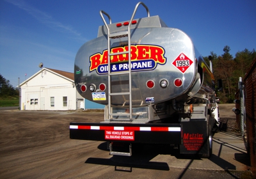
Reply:
<svg viewBox="0 0 256 179"><path fill-rule="evenodd" d="M182 144L181 124L70 123L70 139Z"/></svg>

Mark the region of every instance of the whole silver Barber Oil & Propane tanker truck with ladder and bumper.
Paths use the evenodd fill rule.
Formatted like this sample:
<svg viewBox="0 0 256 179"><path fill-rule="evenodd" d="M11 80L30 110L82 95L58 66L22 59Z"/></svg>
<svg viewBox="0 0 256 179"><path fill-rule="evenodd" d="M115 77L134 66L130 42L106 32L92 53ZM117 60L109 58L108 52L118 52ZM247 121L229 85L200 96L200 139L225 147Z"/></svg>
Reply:
<svg viewBox="0 0 256 179"><path fill-rule="evenodd" d="M134 19L140 5L147 15ZM84 98L105 105L104 121L71 122L70 139L105 141L111 155L131 156L135 144L166 144L210 157L220 123L214 76L191 38L150 17L142 2L130 20L112 23L104 11L100 17L97 38L76 54L74 79Z"/></svg>

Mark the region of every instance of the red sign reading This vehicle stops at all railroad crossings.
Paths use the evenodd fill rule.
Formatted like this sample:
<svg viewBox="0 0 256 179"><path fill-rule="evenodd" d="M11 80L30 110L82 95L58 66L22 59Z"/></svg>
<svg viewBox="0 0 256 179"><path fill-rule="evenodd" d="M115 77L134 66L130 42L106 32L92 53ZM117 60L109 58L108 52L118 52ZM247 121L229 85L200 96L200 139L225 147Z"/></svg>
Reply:
<svg viewBox="0 0 256 179"><path fill-rule="evenodd" d="M105 139L120 140L120 141L134 141L134 131L105 130Z"/></svg>

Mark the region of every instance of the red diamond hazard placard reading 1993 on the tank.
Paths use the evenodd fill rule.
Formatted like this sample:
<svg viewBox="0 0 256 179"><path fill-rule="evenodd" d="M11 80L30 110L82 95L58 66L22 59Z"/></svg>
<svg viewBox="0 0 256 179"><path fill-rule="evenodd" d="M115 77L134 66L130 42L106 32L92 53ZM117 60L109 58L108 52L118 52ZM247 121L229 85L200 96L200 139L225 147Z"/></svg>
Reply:
<svg viewBox="0 0 256 179"><path fill-rule="evenodd" d="M193 61L181 52L172 64L184 74L186 70L188 70L189 66L192 65L192 63Z"/></svg>

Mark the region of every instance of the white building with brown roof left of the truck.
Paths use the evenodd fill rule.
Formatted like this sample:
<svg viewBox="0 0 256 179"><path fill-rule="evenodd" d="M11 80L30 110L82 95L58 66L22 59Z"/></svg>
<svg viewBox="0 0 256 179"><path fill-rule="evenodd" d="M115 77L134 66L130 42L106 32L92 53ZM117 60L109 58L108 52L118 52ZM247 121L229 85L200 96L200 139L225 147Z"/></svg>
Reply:
<svg viewBox="0 0 256 179"><path fill-rule="evenodd" d="M84 108L77 93L74 74L42 68L20 84L21 110L76 110Z"/></svg>

